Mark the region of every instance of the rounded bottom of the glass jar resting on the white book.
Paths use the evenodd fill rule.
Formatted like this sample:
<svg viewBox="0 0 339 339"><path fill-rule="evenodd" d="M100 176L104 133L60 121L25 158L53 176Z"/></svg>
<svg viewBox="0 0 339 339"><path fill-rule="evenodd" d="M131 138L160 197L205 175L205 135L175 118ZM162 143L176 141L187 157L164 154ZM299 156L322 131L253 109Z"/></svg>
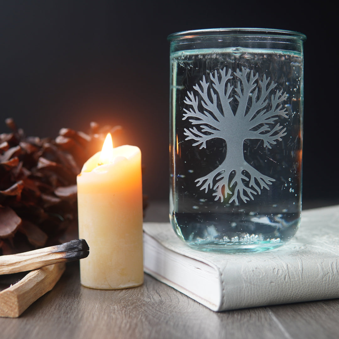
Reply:
<svg viewBox="0 0 339 339"><path fill-rule="evenodd" d="M174 212L170 219L177 236L196 250L263 252L292 239L300 224L300 212L278 215Z"/></svg>

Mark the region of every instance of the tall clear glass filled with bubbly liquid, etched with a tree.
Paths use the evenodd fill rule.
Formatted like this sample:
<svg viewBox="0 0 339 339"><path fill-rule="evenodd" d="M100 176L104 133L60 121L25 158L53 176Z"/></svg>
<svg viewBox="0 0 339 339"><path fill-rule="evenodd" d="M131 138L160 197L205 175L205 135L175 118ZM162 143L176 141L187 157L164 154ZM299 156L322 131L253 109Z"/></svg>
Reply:
<svg viewBox="0 0 339 339"><path fill-rule="evenodd" d="M301 214L303 34L171 34L170 219L188 245L263 251Z"/></svg>

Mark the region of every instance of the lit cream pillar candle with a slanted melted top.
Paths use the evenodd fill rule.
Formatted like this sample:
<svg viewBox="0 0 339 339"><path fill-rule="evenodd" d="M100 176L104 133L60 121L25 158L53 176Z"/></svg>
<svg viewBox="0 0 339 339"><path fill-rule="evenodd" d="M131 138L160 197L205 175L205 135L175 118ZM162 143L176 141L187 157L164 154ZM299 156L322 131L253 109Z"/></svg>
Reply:
<svg viewBox="0 0 339 339"><path fill-rule="evenodd" d="M81 284L102 290L143 283L141 152L113 148L107 135L102 151L77 177L79 237L89 246L80 262Z"/></svg>

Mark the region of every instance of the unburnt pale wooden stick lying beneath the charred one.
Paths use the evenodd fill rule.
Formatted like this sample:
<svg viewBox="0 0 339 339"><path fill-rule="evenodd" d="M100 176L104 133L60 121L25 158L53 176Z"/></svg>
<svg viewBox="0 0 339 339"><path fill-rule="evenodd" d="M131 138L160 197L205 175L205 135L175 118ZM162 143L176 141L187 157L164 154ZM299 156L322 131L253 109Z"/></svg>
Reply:
<svg viewBox="0 0 339 339"><path fill-rule="evenodd" d="M51 291L65 263L48 265L29 272L23 279L0 292L0 317L17 318L34 301Z"/></svg>

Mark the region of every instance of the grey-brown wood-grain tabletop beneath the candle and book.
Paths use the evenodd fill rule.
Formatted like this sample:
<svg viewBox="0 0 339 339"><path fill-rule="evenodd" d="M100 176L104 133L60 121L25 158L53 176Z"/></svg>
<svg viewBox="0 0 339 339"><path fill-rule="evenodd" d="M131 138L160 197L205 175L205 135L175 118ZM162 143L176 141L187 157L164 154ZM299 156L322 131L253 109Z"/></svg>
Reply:
<svg viewBox="0 0 339 339"><path fill-rule="evenodd" d="M153 204L145 221L166 221ZM80 285L69 263L51 292L17 319L0 318L0 338L339 338L339 299L216 313L145 275L140 287L117 291Z"/></svg>

